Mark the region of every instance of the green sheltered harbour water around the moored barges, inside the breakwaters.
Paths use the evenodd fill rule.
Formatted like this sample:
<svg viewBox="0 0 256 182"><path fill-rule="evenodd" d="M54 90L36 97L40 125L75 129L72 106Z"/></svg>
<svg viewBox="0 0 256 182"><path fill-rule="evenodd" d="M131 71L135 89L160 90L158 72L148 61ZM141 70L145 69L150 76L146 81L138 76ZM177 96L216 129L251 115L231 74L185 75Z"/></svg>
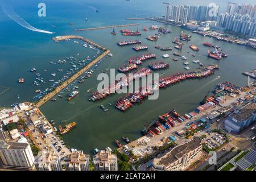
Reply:
<svg viewBox="0 0 256 182"><path fill-rule="evenodd" d="M133 21L129 22L133 23ZM105 30L93 30L76 32L76 35L85 36L93 40L94 42L104 46L113 53L113 57L108 57L97 68L98 71L94 71L92 77L85 80L79 86L79 96L73 98L71 101L67 101L67 97L57 99L56 102L47 102L47 104L40 107L43 113L48 119L54 119L56 127L59 126L61 121L69 123L75 121L77 126L75 129L65 134L64 140L71 148L77 148L78 150L84 150L85 152L92 152L93 148L103 149L105 147L115 147L114 140L121 141L121 137L129 137L131 140L137 139L141 136L140 130L143 125L149 125L152 119L157 118L159 114L163 114L168 110L176 109L179 113L185 114L195 109L199 105L199 102L207 94L208 90L212 90L219 82L230 81L238 86L247 84L247 77L241 73L243 71L251 71L256 66L255 62L255 50L245 46L238 46L232 43L220 42L212 38L204 37L201 35L193 34L191 31L182 29L180 27L170 26L162 23L151 22L148 20L142 20L139 26L129 27L131 30L138 30L142 32L142 36L138 37L124 37L119 30L122 28L115 28L117 35L111 35L112 29ZM146 40L147 36L154 35L157 31L148 30L142 31L143 27L150 27L152 24L158 26L164 26L172 31L172 34L162 35L156 42ZM177 36L179 37L181 31L188 32L192 35L192 40L188 43L184 43L183 49L178 51L174 48L172 40ZM124 39L139 39L142 41L142 45L148 46L148 51L135 52L132 46L117 46L117 42ZM210 42L214 45L220 46L226 52L228 57L222 60L213 60L207 57L208 47L202 45L203 42ZM68 42L57 43L57 46L65 46ZM192 57L187 52L193 52L189 46L196 45L200 51L197 52L198 56ZM56 45L55 45L56 46ZM69 44L68 46L73 46ZM171 46L172 51L160 51L155 49L155 46ZM73 50L75 51L75 50ZM77 52L77 51L76 51ZM180 55L188 57L190 71L199 67L198 64L192 63L192 60L200 60L203 64L218 64L220 69L209 77L186 80L179 82L179 84L168 86L167 88L159 91L158 100L146 100L141 104L134 105L126 112L115 109L114 102L123 94L114 94L108 96L103 100L97 102L90 102L88 98L90 94L87 90L90 89L93 92L97 90L97 75L104 69L118 68L121 65L127 63L127 60L131 57L139 56L144 53L155 53L157 61L164 60L170 64L170 68L162 71L157 71L159 75L171 75L177 72L185 72L183 61L173 61L172 54L179 52ZM162 55L168 53L170 58L163 59ZM140 68L147 68L148 60L144 62ZM220 78L216 76L220 75ZM109 102L113 105L110 106ZM109 114L104 113L100 109L100 105L104 105L109 109ZM122 141L121 141L122 142Z"/></svg>

